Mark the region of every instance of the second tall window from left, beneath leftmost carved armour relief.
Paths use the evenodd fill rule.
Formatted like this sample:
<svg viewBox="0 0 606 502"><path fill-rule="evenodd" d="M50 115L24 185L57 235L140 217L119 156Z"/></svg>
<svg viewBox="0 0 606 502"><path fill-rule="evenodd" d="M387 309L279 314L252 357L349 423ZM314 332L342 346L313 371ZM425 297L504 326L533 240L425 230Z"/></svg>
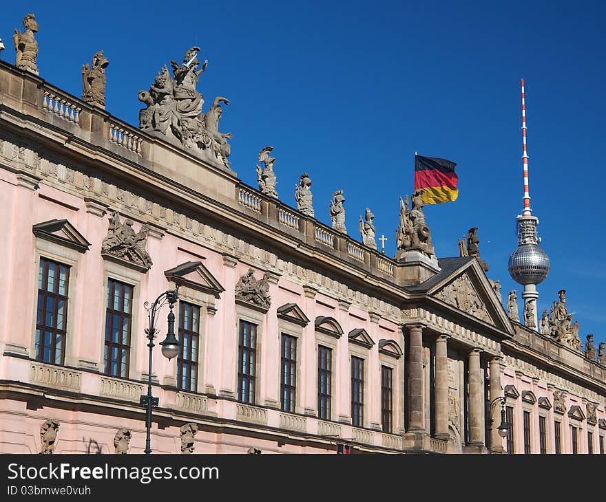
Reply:
<svg viewBox="0 0 606 502"><path fill-rule="evenodd" d="M107 279L105 309L105 374L128 378L133 287Z"/></svg>

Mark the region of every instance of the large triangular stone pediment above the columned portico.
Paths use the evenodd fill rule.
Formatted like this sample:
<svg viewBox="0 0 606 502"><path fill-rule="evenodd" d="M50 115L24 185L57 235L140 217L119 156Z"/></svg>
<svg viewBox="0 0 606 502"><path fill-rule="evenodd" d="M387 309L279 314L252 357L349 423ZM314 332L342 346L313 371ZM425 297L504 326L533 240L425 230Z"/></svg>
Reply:
<svg viewBox="0 0 606 502"><path fill-rule="evenodd" d="M450 274L440 280L434 279L427 295L467 316L513 335L514 329L503 304L478 261L452 261L458 268L443 268L450 270Z"/></svg>

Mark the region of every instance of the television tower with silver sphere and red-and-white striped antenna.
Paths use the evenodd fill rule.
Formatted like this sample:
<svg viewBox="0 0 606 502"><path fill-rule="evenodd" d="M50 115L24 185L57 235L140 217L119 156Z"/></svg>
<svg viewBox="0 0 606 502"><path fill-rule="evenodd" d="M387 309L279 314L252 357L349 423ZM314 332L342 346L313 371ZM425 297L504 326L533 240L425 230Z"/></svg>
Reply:
<svg viewBox="0 0 606 502"><path fill-rule="evenodd" d="M526 105L524 96L524 80L522 80L522 162L524 168L524 209L521 215L516 217L516 233L518 236L518 247L509 258L509 273L512 279L524 286L522 298L524 299L524 314L529 303L534 302L534 326L532 320L527 316L522 318L525 325L535 331L539 331L539 315L536 307L536 299L539 292L536 285L543 282L549 274L550 261L547 253L539 248L541 239L536 237L536 227L539 218L532 216L530 209L530 191L528 189L528 154L526 152Z"/></svg>

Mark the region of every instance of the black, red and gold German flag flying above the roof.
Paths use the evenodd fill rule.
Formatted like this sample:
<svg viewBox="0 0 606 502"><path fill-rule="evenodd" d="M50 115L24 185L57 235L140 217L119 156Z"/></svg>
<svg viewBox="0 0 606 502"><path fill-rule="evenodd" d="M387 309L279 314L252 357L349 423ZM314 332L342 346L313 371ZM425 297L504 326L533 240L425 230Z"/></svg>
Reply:
<svg viewBox="0 0 606 502"><path fill-rule="evenodd" d="M415 190L423 189L425 204L441 204L457 200L459 177L454 173L457 164L437 157L415 155Z"/></svg>

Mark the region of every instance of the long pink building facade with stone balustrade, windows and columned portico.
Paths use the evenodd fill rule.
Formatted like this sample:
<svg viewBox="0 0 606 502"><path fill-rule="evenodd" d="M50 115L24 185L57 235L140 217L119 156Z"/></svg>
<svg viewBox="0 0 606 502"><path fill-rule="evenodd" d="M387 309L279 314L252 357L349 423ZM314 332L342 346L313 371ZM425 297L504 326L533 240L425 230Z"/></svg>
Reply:
<svg viewBox="0 0 606 502"><path fill-rule="evenodd" d="M604 452L606 367L476 259L390 259L4 62L0 102L0 452L143 452L176 286L154 452Z"/></svg>

